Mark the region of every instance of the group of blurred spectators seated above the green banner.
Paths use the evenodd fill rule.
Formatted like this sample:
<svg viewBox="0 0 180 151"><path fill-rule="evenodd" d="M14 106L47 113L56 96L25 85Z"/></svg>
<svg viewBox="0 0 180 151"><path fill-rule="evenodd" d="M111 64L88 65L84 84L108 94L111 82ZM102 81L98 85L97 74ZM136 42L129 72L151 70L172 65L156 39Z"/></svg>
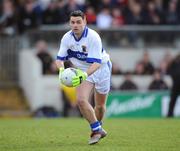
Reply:
<svg viewBox="0 0 180 151"><path fill-rule="evenodd" d="M135 64L132 71L124 72L119 65L113 62L112 74L124 75L124 82L119 86L119 90L138 90L138 86L133 82L132 75L151 75L152 81L149 84L149 90L167 90L169 89L167 83L164 81L164 76L169 75L169 67L173 60L170 52L166 52L158 65L154 65L151 61L148 51L145 51L142 58Z"/></svg>

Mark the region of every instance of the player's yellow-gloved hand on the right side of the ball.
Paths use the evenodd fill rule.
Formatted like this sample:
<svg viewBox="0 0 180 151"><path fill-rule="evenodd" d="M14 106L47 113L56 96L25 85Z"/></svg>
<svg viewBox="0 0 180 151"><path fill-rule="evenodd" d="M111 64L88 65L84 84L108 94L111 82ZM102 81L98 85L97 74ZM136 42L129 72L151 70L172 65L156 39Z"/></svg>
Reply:
<svg viewBox="0 0 180 151"><path fill-rule="evenodd" d="M88 76L86 72L80 69L76 69L76 74L77 75L72 79L73 87L80 85Z"/></svg>

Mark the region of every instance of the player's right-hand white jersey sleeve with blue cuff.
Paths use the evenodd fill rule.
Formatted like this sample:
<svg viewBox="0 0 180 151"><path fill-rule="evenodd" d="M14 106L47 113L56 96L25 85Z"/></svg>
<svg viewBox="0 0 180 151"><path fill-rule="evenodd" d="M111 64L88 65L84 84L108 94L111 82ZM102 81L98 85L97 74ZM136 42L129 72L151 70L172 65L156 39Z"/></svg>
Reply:
<svg viewBox="0 0 180 151"><path fill-rule="evenodd" d="M102 62L102 42L101 38L97 33L93 33L91 37L89 37L89 44L88 44L88 56L86 61L88 63L101 63Z"/></svg>

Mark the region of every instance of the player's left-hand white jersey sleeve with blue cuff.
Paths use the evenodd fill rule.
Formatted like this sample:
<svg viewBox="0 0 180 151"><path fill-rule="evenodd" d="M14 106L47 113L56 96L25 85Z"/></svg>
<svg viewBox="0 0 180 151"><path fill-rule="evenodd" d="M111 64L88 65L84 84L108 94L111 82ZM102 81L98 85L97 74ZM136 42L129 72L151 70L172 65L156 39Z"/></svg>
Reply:
<svg viewBox="0 0 180 151"><path fill-rule="evenodd" d="M67 35L64 35L63 38L61 39L58 55L57 55L57 60L68 60L68 37Z"/></svg>

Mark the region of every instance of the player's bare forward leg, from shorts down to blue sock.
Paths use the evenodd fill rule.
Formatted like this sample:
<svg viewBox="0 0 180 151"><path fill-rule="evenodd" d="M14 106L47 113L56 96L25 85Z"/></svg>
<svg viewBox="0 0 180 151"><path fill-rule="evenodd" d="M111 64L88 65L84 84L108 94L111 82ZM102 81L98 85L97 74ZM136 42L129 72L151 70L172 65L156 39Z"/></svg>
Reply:
<svg viewBox="0 0 180 151"><path fill-rule="evenodd" d="M97 121L93 107L88 102L94 85L88 81L83 81L80 86L76 88L77 102L81 114L91 124Z"/></svg>

